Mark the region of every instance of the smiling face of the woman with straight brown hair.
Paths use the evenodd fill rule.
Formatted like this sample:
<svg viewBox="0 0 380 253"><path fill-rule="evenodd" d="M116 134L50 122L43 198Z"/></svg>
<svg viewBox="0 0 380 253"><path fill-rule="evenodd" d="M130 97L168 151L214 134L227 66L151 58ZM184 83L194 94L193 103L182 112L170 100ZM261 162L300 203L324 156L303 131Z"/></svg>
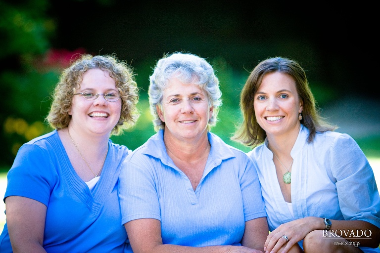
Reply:
<svg viewBox="0 0 380 253"><path fill-rule="evenodd" d="M291 76L281 72L266 74L255 93L253 107L268 137L298 134L302 102Z"/></svg>

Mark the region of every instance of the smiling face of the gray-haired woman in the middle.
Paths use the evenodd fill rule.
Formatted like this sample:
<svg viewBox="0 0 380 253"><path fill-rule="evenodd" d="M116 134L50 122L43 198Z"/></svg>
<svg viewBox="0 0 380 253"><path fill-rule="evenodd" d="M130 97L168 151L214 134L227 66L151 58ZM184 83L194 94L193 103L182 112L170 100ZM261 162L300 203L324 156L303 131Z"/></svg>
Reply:
<svg viewBox="0 0 380 253"><path fill-rule="evenodd" d="M162 106L157 106L166 137L182 141L207 138L212 111L204 90L196 84L183 84L177 78L170 80L163 92Z"/></svg>

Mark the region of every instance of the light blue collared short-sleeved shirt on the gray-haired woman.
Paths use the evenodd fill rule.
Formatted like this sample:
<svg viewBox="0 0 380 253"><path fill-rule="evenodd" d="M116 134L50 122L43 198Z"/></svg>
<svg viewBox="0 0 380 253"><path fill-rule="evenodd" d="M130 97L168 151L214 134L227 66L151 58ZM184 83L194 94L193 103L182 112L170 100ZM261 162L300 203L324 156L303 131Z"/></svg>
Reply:
<svg viewBox="0 0 380 253"><path fill-rule="evenodd" d="M158 219L163 244L241 245L245 221L266 216L252 161L209 132L210 154L194 191L168 156L163 133L150 137L122 165L121 223Z"/></svg>

